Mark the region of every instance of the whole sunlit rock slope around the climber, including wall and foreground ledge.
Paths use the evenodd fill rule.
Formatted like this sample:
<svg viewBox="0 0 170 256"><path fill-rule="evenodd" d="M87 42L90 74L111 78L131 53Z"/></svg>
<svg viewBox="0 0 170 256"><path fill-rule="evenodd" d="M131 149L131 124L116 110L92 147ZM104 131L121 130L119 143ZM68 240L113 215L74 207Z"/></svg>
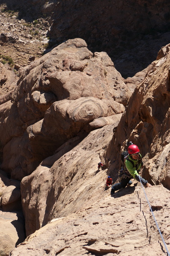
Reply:
<svg viewBox="0 0 170 256"><path fill-rule="evenodd" d="M117 180L126 139L138 144L145 161L143 176L153 185L146 192L169 248L169 46L161 49L158 56L134 90L118 125L90 132L67 152L71 139L22 179L27 236L40 230L11 255L22 255L29 248L36 255L72 255L72 251L74 255L80 255L80 251L81 255L166 255L141 185L136 187L134 181L112 197L104 186L107 175L112 176L113 182ZM161 95L164 104L157 104ZM148 104L149 100L152 104ZM161 111L154 112L157 107ZM98 161L105 163L104 171L97 170ZM56 218L56 223L48 224ZM46 242L47 234L50 236Z"/></svg>

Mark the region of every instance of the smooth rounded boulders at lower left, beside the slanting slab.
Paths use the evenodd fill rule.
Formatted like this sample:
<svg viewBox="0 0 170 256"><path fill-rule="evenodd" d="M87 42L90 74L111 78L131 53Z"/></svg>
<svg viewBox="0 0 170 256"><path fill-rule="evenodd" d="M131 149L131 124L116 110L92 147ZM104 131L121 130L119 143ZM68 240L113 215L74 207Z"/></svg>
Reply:
<svg viewBox="0 0 170 256"><path fill-rule="evenodd" d="M8 256L26 235L20 181L9 179L3 171L0 171L0 226L0 255Z"/></svg>

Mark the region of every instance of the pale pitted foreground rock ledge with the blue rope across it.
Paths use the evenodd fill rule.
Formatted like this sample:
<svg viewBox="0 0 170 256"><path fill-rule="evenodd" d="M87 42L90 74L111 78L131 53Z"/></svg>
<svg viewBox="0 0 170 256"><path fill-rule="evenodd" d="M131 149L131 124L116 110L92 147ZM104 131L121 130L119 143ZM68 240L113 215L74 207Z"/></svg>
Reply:
<svg viewBox="0 0 170 256"><path fill-rule="evenodd" d="M53 219L10 255L166 256L141 185L127 187L111 197L109 190L104 191L103 182L97 183L92 193L98 194L98 199L89 207L82 205L76 214ZM146 193L170 250L170 192L158 185L146 189Z"/></svg>

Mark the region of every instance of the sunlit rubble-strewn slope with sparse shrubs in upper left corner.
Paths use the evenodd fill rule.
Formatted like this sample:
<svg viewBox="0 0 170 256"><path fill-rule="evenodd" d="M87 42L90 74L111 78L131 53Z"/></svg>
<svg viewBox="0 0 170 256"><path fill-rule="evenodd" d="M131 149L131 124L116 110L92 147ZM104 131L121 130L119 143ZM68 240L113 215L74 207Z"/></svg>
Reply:
<svg viewBox="0 0 170 256"><path fill-rule="evenodd" d="M18 15L18 11L0 5L0 60L9 63L15 73L41 57L49 42L48 18L28 22Z"/></svg>

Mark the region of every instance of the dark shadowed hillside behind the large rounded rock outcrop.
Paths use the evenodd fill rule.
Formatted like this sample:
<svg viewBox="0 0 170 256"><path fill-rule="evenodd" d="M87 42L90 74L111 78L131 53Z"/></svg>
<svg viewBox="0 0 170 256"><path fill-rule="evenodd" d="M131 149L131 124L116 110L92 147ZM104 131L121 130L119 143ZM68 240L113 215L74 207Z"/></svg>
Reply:
<svg viewBox="0 0 170 256"><path fill-rule="evenodd" d="M92 52L107 52L126 78L146 68L170 42L168 0L1 0L18 18L49 17L49 45L83 38Z"/></svg>

